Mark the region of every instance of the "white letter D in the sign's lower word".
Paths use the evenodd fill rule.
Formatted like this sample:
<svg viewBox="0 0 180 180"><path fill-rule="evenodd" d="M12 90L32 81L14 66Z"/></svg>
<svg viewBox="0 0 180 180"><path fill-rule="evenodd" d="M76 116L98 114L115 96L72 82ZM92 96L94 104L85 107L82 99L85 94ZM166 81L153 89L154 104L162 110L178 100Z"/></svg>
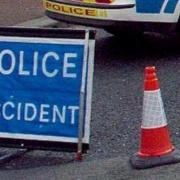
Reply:
<svg viewBox="0 0 180 180"><path fill-rule="evenodd" d="M32 114L30 115L30 110L32 110ZM28 116L29 115L29 116ZM25 121L33 121L37 115L36 106L32 103L26 103L24 108L24 120Z"/></svg>

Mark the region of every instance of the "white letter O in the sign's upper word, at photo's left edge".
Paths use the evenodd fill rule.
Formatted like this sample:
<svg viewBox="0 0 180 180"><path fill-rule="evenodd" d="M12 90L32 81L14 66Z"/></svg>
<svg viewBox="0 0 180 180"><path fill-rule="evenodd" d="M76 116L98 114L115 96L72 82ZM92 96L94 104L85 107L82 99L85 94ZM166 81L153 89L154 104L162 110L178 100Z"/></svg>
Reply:
<svg viewBox="0 0 180 180"><path fill-rule="evenodd" d="M9 63L10 67L7 70L2 67L2 60L3 60L3 57L5 55L8 55L8 56L11 57L11 63ZM0 53L0 73L2 73L4 75L11 74L13 72L13 70L14 70L14 67L15 67L15 61L16 61L15 54L11 50L8 50L8 49L3 50Z"/></svg>

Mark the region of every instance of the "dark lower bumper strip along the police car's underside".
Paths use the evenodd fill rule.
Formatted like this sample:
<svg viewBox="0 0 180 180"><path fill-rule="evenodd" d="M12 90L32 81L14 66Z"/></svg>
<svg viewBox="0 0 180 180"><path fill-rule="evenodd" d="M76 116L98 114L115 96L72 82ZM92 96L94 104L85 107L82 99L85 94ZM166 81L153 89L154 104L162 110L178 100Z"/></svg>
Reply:
<svg viewBox="0 0 180 180"><path fill-rule="evenodd" d="M149 31L149 32L161 32L167 34L169 32L175 32L177 28L176 23L151 23L151 22L132 22L128 21L115 21L115 20L100 20L100 19L85 19L80 17L71 17L67 15L57 16L56 13L46 11L47 16L52 19L65 22L73 22L75 24L82 24L87 26L100 27L104 29L114 28L116 30L129 30L136 31Z"/></svg>

